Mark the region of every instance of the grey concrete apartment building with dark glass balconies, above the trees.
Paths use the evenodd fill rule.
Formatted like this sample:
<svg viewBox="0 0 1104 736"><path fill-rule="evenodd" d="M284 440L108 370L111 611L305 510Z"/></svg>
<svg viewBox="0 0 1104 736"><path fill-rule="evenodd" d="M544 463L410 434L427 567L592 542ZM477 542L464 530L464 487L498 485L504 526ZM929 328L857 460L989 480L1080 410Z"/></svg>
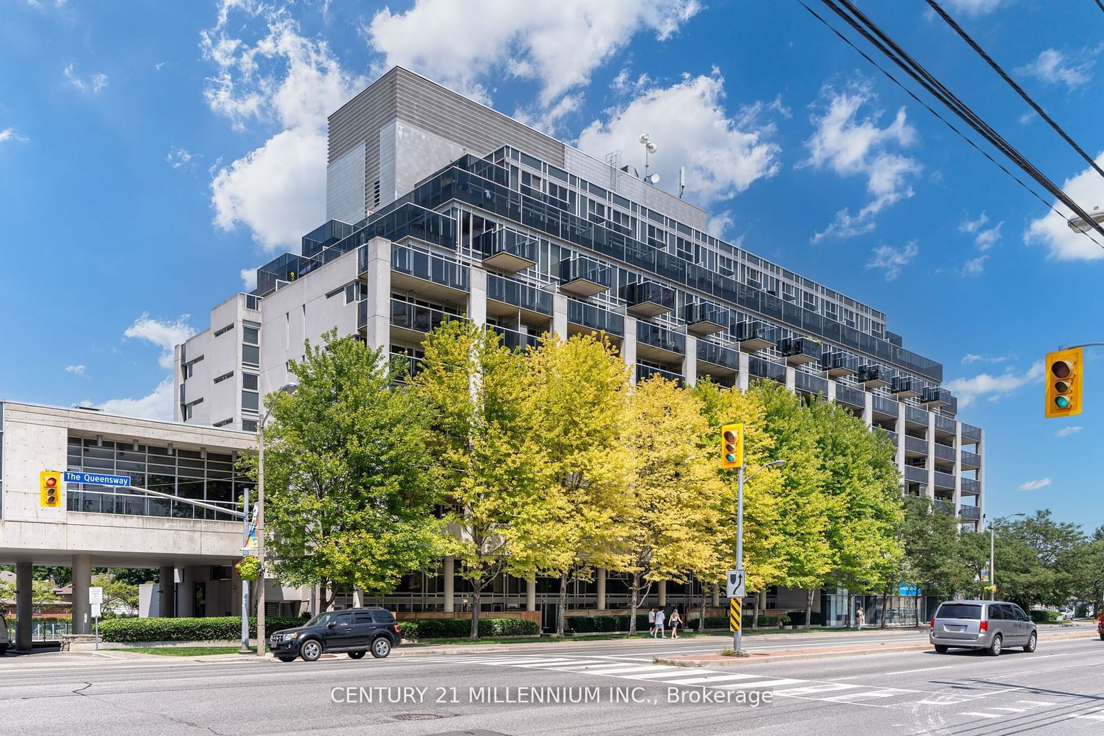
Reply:
<svg viewBox="0 0 1104 736"><path fill-rule="evenodd" d="M327 330L404 355L464 317L522 349L605 331L633 369L754 378L824 396L885 431L904 491L980 524L980 428L943 366L885 313L705 232L705 213L395 67L329 119L329 221L178 345L177 418L256 428L259 396Z"/></svg>

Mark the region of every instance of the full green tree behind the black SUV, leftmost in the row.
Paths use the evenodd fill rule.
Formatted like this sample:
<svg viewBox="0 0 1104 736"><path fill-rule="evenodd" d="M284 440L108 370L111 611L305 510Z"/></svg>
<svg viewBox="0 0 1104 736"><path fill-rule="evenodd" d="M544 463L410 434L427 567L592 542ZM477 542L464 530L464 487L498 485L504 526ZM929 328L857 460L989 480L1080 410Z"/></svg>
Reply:
<svg viewBox="0 0 1104 736"><path fill-rule="evenodd" d="M323 335L291 361L294 394L266 397L265 524L276 575L322 586L392 591L403 575L429 569L440 551L429 414L404 372L352 338ZM256 458L245 460L254 477Z"/></svg>

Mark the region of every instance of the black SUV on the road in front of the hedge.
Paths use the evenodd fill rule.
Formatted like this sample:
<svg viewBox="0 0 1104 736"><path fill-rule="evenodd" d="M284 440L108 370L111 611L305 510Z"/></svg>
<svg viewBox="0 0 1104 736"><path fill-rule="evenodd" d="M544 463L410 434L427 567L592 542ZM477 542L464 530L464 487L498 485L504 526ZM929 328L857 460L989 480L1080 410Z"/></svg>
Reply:
<svg viewBox="0 0 1104 736"><path fill-rule="evenodd" d="M268 648L282 662L301 657L314 662L322 652L346 652L359 660L364 652L384 658L402 641L399 623L383 608L348 608L319 614L295 629L283 629L268 637Z"/></svg>

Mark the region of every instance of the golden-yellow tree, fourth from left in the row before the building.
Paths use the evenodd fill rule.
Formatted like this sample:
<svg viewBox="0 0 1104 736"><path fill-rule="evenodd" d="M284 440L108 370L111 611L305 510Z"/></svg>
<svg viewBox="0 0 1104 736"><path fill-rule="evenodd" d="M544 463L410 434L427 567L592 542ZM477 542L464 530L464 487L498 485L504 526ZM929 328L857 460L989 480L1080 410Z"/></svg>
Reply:
<svg viewBox="0 0 1104 736"><path fill-rule="evenodd" d="M654 376L629 393L626 438L633 455L631 503L625 524L629 554L629 633L652 583L684 583L723 567L716 545L724 487L702 403L678 383Z"/></svg>

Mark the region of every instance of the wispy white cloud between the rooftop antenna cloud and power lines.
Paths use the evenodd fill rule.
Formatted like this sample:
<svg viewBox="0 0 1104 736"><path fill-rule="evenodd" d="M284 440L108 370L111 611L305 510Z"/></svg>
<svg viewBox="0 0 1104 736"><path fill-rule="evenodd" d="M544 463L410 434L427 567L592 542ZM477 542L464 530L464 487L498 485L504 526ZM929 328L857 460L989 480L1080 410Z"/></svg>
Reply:
<svg viewBox="0 0 1104 736"><path fill-rule="evenodd" d="M814 243L870 232L884 206L913 195L909 179L922 167L916 159L891 149L915 143L916 130L909 125L904 107L885 127L879 126L880 110L862 115L874 99L869 83L851 82L843 89L825 85L820 99L810 106L816 130L805 141L809 158L798 166L828 168L841 177L866 177L867 192L873 198L858 214L852 215L849 207L838 211L836 220L813 236Z"/></svg>

